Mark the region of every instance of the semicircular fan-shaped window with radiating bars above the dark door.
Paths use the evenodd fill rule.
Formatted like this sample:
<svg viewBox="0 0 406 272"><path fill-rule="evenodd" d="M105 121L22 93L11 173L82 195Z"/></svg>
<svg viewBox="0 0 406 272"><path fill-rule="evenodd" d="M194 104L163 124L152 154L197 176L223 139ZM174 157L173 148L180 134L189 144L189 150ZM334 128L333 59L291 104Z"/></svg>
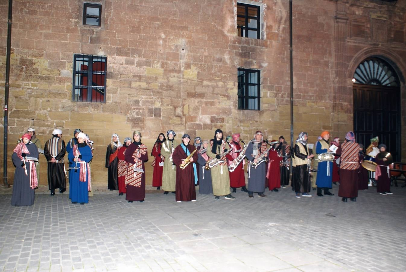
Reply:
<svg viewBox="0 0 406 272"><path fill-rule="evenodd" d="M391 65L379 58L368 58L355 69L354 83L368 85L399 86L399 78Z"/></svg>

